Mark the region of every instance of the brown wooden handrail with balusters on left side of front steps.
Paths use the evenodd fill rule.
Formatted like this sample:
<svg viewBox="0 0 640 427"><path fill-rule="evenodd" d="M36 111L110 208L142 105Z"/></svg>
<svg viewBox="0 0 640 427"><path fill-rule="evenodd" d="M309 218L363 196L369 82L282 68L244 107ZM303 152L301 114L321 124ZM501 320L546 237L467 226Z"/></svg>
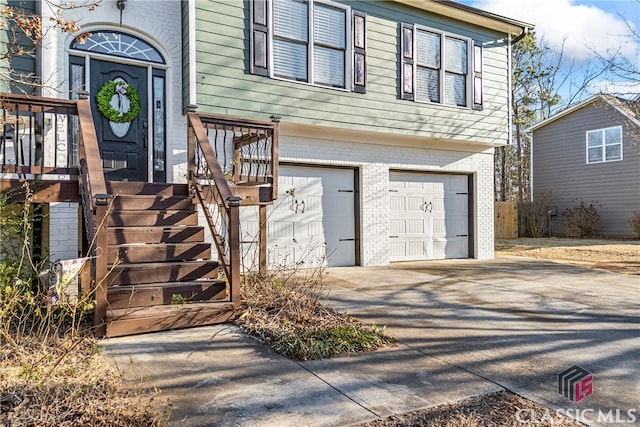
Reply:
<svg viewBox="0 0 640 427"><path fill-rule="evenodd" d="M22 159L18 157L16 149L15 164L8 164L3 160L3 173L12 174L64 174L66 179L78 177L80 185L80 198L84 210L84 220L90 243L89 250L93 259L92 285L95 288L95 325L96 333L103 335L105 332L104 318L107 309L107 289L103 285L107 275L107 216L109 207L107 205L109 195L102 170L102 160L98 148L98 138L96 135L91 105L88 94L80 94L79 100L42 98L27 95L15 95L0 93L0 105L2 112L2 122L0 126L13 126L16 129L29 129L25 138L27 152L34 150L34 158L30 155L22 154ZM45 164L43 145L56 143L58 141L58 116L67 116L66 119L77 117L78 126L78 165L72 163L75 159L67 152L66 158L58 164L57 157L54 156L53 164ZM61 120L65 120L62 118ZM45 131L43 123L49 121L48 142L44 140ZM52 124L51 124L52 123ZM70 120L66 120L61 125L62 134L65 135L71 127ZM3 129L4 130L4 129ZM15 131L17 133L17 130ZM7 137L3 135L1 142ZM13 144L22 144L18 138L13 138ZM65 140L66 141L66 140ZM17 147L17 146L16 146ZM22 146L20 146L22 147ZM37 148L36 148L37 147ZM22 149L22 148L21 148ZM4 148L6 152L6 146ZM54 149L54 151L57 150ZM56 153L57 154L57 153ZM6 160L6 159L5 159ZM19 164L18 161L24 162ZM83 290L90 291L90 287L83 285Z"/></svg>

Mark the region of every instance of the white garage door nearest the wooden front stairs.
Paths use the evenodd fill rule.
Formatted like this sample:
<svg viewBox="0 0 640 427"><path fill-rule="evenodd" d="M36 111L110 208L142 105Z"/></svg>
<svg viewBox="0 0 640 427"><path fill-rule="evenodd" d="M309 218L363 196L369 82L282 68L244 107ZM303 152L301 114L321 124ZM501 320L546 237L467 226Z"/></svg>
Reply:
<svg viewBox="0 0 640 427"><path fill-rule="evenodd" d="M257 235L253 215L243 214L245 247ZM278 199L267 213L267 262L271 268L355 265L355 223L353 169L281 166Z"/></svg>

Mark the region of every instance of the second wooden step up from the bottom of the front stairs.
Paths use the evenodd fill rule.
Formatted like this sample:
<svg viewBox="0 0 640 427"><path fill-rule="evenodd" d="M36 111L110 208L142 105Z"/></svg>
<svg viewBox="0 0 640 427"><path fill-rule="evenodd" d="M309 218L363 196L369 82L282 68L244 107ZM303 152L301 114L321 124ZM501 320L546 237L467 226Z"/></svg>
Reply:
<svg viewBox="0 0 640 427"><path fill-rule="evenodd" d="M194 282L148 283L109 288L112 309L175 304L178 295L185 302L221 300L227 298L227 282L218 279Z"/></svg>

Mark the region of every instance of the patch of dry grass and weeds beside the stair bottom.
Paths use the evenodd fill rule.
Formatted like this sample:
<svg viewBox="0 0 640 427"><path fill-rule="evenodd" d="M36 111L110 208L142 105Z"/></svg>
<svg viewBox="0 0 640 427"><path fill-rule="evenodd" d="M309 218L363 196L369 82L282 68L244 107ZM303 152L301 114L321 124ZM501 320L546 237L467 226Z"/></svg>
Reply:
<svg viewBox="0 0 640 427"><path fill-rule="evenodd" d="M372 351L390 345L384 329L337 313L322 303L323 269L249 275L241 287L245 313L237 323L294 360Z"/></svg>

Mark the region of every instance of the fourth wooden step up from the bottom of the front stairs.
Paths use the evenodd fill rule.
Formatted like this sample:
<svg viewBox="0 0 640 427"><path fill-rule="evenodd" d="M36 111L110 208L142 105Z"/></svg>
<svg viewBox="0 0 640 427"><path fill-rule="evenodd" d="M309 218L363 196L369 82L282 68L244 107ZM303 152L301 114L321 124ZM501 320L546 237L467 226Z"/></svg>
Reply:
<svg viewBox="0 0 640 427"><path fill-rule="evenodd" d="M195 261L211 258L209 243L125 244L109 246L107 262Z"/></svg>

